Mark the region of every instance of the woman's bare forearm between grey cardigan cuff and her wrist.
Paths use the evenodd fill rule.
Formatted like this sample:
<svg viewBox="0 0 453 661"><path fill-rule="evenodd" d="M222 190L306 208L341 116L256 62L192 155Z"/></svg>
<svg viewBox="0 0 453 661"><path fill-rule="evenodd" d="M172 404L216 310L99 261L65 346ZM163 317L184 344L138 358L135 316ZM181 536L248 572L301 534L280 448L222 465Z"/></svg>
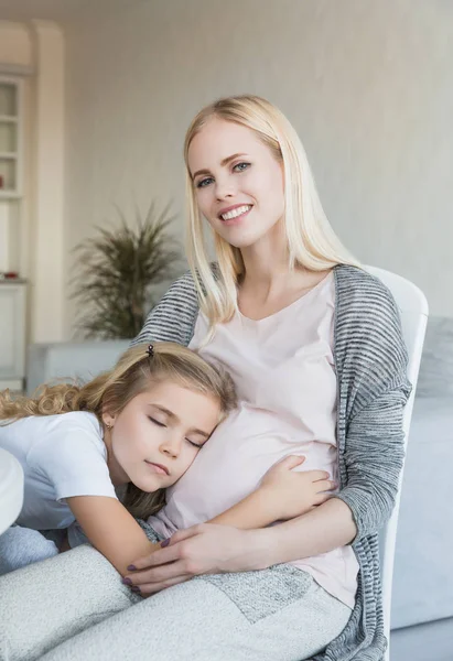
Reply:
<svg viewBox="0 0 453 661"><path fill-rule="evenodd" d="M266 554L265 564L271 566L327 553L350 543L357 528L349 507L338 498L331 498L316 509L268 528L268 543L259 542L260 552Z"/></svg>

